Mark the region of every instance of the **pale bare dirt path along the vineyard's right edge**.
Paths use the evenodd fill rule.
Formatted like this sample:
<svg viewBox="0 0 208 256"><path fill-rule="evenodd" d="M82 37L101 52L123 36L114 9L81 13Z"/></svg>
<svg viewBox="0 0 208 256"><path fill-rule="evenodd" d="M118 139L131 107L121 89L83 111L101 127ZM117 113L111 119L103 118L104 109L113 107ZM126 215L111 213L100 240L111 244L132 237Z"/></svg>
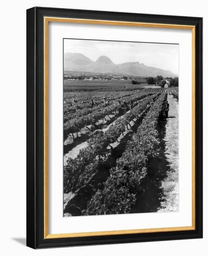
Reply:
<svg viewBox="0 0 208 256"><path fill-rule="evenodd" d="M178 102L173 95L168 94L169 117L165 130L165 157L169 163L167 177L162 182L163 199L158 212L178 211Z"/></svg>

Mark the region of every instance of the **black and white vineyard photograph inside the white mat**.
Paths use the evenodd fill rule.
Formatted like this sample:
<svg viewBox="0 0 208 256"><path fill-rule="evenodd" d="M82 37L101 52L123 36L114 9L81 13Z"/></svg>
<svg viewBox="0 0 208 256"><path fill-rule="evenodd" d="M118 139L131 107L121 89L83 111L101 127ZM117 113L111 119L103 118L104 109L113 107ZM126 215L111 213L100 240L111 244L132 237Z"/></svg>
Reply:
<svg viewBox="0 0 208 256"><path fill-rule="evenodd" d="M64 216L177 212L179 45L63 46Z"/></svg>

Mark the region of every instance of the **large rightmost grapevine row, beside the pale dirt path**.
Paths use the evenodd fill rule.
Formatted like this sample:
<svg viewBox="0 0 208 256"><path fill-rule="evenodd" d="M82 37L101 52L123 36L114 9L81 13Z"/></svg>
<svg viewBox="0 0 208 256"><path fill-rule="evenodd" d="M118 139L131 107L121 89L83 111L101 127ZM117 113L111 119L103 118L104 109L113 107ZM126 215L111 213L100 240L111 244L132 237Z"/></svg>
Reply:
<svg viewBox="0 0 208 256"><path fill-rule="evenodd" d="M116 167L110 169L104 189L98 190L88 202L84 215L130 213L140 181L146 175L148 159L157 155L157 122L166 97L165 93L161 94L150 108Z"/></svg>

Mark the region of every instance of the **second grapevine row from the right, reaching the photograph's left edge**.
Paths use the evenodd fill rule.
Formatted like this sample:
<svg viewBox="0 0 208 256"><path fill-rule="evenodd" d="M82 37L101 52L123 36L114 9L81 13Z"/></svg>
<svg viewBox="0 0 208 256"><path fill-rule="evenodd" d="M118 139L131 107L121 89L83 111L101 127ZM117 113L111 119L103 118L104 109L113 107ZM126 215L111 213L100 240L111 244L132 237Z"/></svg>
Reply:
<svg viewBox="0 0 208 256"><path fill-rule="evenodd" d="M158 95L159 94L148 96L138 102L135 108L123 115L123 118L118 119L115 124L111 125L106 133L99 132L97 135L93 135L88 140L88 147L80 150L75 159L69 158L64 167L65 193L69 191L74 192L76 189L80 188L80 186L84 185L89 174L92 175L93 170L90 171L88 169L92 169L93 166L94 170L96 170L95 165L98 164L96 156L101 155L102 151L107 148L110 143L117 141L117 138L125 132L126 126L130 121L138 117Z"/></svg>

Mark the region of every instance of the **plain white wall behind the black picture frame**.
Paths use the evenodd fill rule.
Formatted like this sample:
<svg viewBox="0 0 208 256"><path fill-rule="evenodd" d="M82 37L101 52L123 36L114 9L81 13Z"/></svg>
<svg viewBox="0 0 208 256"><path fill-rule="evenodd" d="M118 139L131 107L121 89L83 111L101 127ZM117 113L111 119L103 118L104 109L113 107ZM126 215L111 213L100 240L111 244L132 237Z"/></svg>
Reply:
<svg viewBox="0 0 208 256"><path fill-rule="evenodd" d="M0 14L0 253L2 255L207 255L208 186L204 238L170 242L33 250L26 243L26 9L34 6L154 13L204 18L204 77L208 70L208 13L204 0L7 0ZM207 79L204 81L207 81ZM204 82L204 181L208 180L208 101Z"/></svg>

